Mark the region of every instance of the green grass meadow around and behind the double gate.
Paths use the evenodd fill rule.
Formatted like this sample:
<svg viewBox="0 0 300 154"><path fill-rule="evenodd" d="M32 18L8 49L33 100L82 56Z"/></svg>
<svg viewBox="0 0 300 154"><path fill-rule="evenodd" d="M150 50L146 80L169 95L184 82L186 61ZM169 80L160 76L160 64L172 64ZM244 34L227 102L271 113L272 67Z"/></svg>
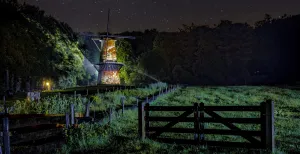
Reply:
<svg viewBox="0 0 300 154"><path fill-rule="evenodd" d="M274 87L187 87L158 98L152 105L191 106L194 102L205 105L259 105L272 99L275 102L276 153L300 153L300 91ZM165 113L152 112L150 115ZM178 114L178 113L169 113ZM256 117L255 113L223 113L226 117ZM164 144L138 138L137 111L126 111L124 116L115 119L111 125L83 124L80 129L68 132L68 143L60 153L256 153L247 149L217 149L176 144ZM163 125L157 123L151 125ZM176 127L192 127L181 123ZM242 129L255 130L258 126L238 125ZM222 129L222 125L206 125ZM164 133L174 138L192 136ZM232 136L206 136L213 140L241 141Z"/></svg>

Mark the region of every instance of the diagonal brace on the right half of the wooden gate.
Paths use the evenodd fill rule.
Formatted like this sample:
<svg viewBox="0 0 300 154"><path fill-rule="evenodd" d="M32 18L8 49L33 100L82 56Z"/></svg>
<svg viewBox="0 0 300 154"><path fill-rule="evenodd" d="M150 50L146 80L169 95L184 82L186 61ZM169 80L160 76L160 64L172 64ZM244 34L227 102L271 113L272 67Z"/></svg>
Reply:
<svg viewBox="0 0 300 154"><path fill-rule="evenodd" d="M207 114L209 114L211 117L214 117L216 119L223 119L220 115L216 114L215 112L213 111L206 111ZM222 122L222 124L224 124L226 127L232 129L232 130L236 130L236 131L241 131L240 128L236 127L235 125L233 125L232 123L229 123L229 122ZM247 139L248 141L250 141L251 143L253 144L260 144L260 141L258 141L257 139L255 139L254 137L252 136L249 136L249 135L241 135L243 138Z"/></svg>

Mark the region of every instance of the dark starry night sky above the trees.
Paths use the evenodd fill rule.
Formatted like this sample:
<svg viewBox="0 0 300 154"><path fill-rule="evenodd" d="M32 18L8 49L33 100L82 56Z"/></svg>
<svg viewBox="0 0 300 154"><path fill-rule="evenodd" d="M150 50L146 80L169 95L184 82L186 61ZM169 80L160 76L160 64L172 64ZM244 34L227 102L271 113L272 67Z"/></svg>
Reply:
<svg viewBox="0 0 300 154"><path fill-rule="evenodd" d="M22 0L37 5L76 32L177 31L182 24L213 25L221 19L253 24L272 17L300 14L300 0Z"/></svg>

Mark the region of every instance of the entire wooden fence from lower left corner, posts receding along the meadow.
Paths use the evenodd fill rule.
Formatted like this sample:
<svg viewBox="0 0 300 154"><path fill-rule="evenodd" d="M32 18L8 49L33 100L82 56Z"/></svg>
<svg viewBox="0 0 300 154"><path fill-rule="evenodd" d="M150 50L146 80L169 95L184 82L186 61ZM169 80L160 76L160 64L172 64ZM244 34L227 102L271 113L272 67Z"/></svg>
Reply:
<svg viewBox="0 0 300 154"><path fill-rule="evenodd" d="M154 100L157 96L160 96L164 93L171 92L175 90L175 86L170 86L166 87L166 89L161 89L157 94L152 94L152 100ZM87 91L88 95L88 91ZM157 95L157 96L155 96ZM76 91L74 91L74 97L76 98L77 94ZM59 95L60 97L60 95ZM151 97L151 96L150 96ZM146 97L146 102L149 102L148 97ZM139 100L137 99L137 104L139 103ZM70 112L67 112L66 114L8 114L8 108L6 108L5 105L5 97L4 97L4 108L5 108L5 113L0 113L0 118L3 120L2 121L2 143L3 143L3 148L4 148L4 153L9 154L10 153L10 146L11 146L11 136L14 135L20 135L20 134L27 134L27 133L33 133L33 132L40 132L40 131L47 131L50 129L62 129L62 128L69 128L69 127L76 127L76 124L79 124L81 122L87 122L87 121L94 121L95 120L95 110L94 110L94 118L90 118L90 106L91 103L88 101L85 104L85 114L84 116L82 114L75 114L74 110L74 104L70 105ZM124 97L121 98L121 113L124 113L125 110L125 102L124 102ZM136 105L135 105L136 107ZM109 108L109 122L112 120L112 113L113 109ZM26 126L20 126L20 127L15 127L15 128L10 128L11 120L26 120L26 119L39 119L39 118L60 118L60 122L52 122L49 124L34 124L34 125L26 125ZM9 135L11 134L11 135ZM43 143L43 142L51 142L55 139L56 137L63 137L63 134L59 134L58 136L53 136L53 137L48 137L44 138L41 141L39 140L32 140L32 141L27 141L27 142L20 142L17 144L12 144L12 145L29 145L31 142L32 143ZM47 141L46 141L47 140ZM0 140L1 141L1 140ZM0 146L0 154L2 154L2 147Z"/></svg>

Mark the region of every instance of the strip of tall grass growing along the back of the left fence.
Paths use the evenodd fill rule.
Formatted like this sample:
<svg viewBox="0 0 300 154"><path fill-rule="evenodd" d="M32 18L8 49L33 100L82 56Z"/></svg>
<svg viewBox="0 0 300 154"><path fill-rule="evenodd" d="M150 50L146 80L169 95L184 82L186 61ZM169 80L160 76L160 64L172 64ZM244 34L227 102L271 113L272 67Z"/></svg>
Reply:
<svg viewBox="0 0 300 154"><path fill-rule="evenodd" d="M118 90L114 92L100 93L90 96L92 108L96 111L105 111L108 108L116 108L124 97L125 104L133 104L137 98L145 98L167 86L166 83L154 83L145 88ZM47 96L39 102L28 100L17 100L12 103L9 113L13 114L64 114L69 111L70 104L74 104L76 112L84 112L85 104L89 98L74 96ZM3 110L3 107L2 107Z"/></svg>

